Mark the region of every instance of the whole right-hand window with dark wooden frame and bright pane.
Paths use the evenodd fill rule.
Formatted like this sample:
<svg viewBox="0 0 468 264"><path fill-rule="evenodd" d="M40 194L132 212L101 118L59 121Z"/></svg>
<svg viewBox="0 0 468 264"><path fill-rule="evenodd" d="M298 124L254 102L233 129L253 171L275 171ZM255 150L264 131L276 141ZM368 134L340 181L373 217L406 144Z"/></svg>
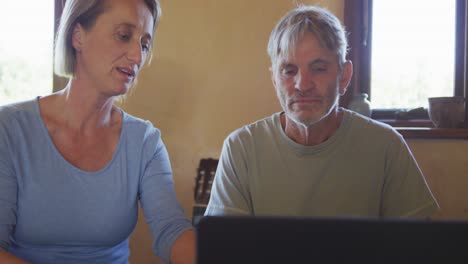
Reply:
<svg viewBox="0 0 468 264"><path fill-rule="evenodd" d="M372 117L395 120L398 111L427 108L428 97L465 96L465 17L466 0L345 1L355 71L341 105L354 93L368 93ZM425 110L404 123L431 124Z"/></svg>

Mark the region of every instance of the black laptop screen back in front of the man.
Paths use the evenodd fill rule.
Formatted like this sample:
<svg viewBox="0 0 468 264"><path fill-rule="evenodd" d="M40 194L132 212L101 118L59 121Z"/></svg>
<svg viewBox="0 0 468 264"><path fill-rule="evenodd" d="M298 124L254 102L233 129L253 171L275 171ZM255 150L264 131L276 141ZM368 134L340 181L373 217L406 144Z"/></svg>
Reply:
<svg viewBox="0 0 468 264"><path fill-rule="evenodd" d="M468 263L468 222L203 217L198 264Z"/></svg>

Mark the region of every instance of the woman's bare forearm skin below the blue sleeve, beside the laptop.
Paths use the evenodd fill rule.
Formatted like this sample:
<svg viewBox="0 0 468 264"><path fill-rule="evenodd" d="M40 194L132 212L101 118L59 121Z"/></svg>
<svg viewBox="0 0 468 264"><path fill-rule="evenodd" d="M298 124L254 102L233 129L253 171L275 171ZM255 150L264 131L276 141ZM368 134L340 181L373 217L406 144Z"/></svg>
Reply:
<svg viewBox="0 0 468 264"><path fill-rule="evenodd" d="M195 232L185 231L171 248L171 264L195 263Z"/></svg>

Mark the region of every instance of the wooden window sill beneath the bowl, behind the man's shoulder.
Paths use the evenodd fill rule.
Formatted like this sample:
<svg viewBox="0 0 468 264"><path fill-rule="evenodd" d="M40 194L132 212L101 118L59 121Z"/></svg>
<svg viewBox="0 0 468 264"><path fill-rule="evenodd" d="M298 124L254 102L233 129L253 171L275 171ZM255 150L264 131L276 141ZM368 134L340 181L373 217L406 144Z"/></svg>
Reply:
<svg viewBox="0 0 468 264"><path fill-rule="evenodd" d="M405 139L468 139L468 128L435 128L429 120L379 120Z"/></svg>

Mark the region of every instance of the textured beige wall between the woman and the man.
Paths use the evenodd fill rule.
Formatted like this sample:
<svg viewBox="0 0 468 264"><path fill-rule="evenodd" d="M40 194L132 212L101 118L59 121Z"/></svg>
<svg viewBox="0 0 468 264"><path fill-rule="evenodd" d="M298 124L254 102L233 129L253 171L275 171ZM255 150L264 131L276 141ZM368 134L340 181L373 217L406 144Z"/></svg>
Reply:
<svg viewBox="0 0 468 264"><path fill-rule="evenodd" d="M320 4L343 17L342 0L161 0L155 58L123 108L161 129L187 216L199 160L218 158L232 130L280 109L266 45L296 2ZM155 263L150 246L140 214L131 261Z"/></svg>

